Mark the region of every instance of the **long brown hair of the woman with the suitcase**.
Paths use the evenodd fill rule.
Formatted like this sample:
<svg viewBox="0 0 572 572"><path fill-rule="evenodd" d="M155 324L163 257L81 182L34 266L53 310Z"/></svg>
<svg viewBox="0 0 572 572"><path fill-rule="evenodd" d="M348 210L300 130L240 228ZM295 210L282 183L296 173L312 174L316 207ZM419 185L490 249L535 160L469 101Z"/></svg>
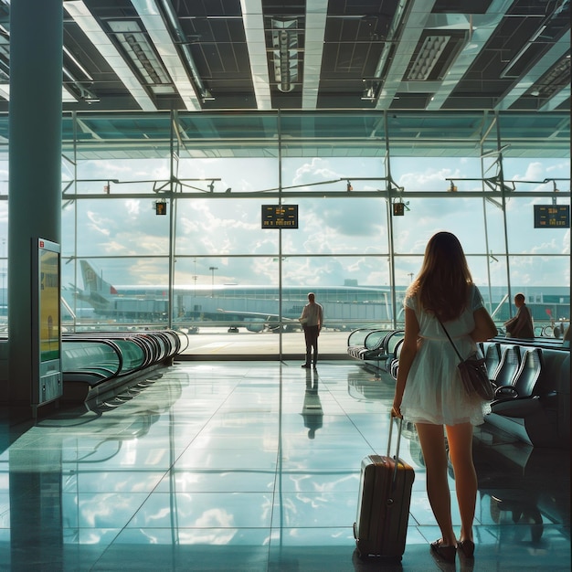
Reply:
<svg viewBox="0 0 572 572"><path fill-rule="evenodd" d="M447 322L465 309L469 284L471 271L461 242L450 232L438 232L429 239L423 265L407 294L417 295L426 312Z"/></svg>

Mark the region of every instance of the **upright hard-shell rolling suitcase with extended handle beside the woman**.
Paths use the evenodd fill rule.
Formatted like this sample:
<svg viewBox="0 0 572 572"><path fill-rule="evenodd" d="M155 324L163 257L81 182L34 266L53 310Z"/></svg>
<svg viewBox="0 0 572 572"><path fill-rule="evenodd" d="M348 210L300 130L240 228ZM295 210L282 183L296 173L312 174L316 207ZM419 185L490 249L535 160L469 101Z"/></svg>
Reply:
<svg viewBox="0 0 572 572"><path fill-rule="evenodd" d="M408 531L409 504L415 473L399 459L403 419L399 419L396 454L390 457L393 418L389 422L387 456L368 455L362 460L355 545L360 557L386 556L401 560Z"/></svg>

